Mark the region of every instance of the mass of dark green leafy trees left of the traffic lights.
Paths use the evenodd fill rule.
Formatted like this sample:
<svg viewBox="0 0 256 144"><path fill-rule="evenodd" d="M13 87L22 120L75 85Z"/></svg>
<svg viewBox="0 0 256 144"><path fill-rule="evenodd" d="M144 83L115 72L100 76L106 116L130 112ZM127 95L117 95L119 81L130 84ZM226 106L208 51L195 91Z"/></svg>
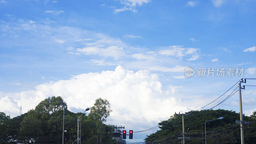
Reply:
<svg viewBox="0 0 256 144"><path fill-rule="evenodd" d="M63 128L63 104L58 96L49 97L41 101L35 109L29 110L21 116L10 119L0 112L0 143L61 143ZM65 103L65 102L64 102ZM64 141L77 142L77 119L82 113L73 113L67 109L65 103ZM81 143L96 143L97 133L112 133L113 125L103 122L111 112L108 100L97 99L92 107L93 114L81 116ZM112 136L101 136L101 143L115 143Z"/></svg>

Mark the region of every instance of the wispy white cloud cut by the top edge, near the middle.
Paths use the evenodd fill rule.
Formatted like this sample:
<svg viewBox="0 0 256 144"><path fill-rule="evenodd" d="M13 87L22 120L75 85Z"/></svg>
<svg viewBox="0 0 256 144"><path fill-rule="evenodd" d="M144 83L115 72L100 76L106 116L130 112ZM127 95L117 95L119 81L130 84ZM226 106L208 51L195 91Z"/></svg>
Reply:
<svg viewBox="0 0 256 144"><path fill-rule="evenodd" d="M137 12L136 6L141 6L142 4L146 4L149 2L149 0L120 0L121 4L124 5L124 7L119 9L114 9L115 13L118 12L124 12L124 11L132 11Z"/></svg>

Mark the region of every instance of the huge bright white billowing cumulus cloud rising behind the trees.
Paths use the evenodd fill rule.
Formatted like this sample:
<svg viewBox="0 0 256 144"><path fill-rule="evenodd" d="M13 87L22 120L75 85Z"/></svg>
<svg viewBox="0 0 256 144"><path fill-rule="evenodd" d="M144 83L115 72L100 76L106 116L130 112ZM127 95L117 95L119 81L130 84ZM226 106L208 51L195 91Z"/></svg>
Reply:
<svg viewBox="0 0 256 144"><path fill-rule="evenodd" d="M39 84L31 91L0 92L0 111L10 110L12 117L17 116L20 100L24 103L22 109L25 113L35 108L41 100L53 95L61 96L69 110L87 108L94 104L95 99L106 98L113 109L107 123L125 124L127 128L133 125L138 127L137 130L168 119L175 111L196 109L187 101L175 98L163 90L157 74L148 70L134 72L117 66L114 71L84 73L68 80Z"/></svg>

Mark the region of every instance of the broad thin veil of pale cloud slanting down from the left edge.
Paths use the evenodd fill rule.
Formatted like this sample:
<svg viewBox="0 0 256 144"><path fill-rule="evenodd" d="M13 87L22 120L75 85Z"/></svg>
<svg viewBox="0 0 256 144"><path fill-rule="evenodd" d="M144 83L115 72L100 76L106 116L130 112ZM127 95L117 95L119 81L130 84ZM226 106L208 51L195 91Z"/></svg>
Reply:
<svg viewBox="0 0 256 144"><path fill-rule="evenodd" d="M0 29L0 33L6 34L6 39L14 40L19 38L19 43L12 43L12 46L33 41L32 47L42 47L42 49L48 52L52 52L52 46L56 47L54 48L54 52L63 51L63 47L69 47L69 52L67 53L76 55L81 55L82 53L98 54L104 57L112 56L118 59L125 55L123 48L133 48L132 46L128 47L118 38L112 38L81 28L67 26L51 27L48 25L51 22L49 19L45 21L45 24L40 21L31 23L29 20L22 19L19 19L19 21L8 21L0 25L2 28ZM15 33L15 38L11 35L13 33ZM62 44L63 46L60 47L58 44ZM70 47L72 45L76 45L76 47L88 46L83 49L74 49ZM89 52L89 49L92 47L97 47L95 50L98 52Z"/></svg>

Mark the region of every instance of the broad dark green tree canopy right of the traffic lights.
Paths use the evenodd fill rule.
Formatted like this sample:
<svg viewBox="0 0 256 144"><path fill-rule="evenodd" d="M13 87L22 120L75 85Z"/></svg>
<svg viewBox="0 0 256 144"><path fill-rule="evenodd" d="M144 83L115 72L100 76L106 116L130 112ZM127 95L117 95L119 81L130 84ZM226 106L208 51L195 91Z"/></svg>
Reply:
<svg viewBox="0 0 256 144"><path fill-rule="evenodd" d="M206 123L207 143L236 143L240 141L240 124L236 124L236 120L240 120L239 113L223 109L218 110L201 110L190 111L184 116L184 129L186 143L202 143L205 141L204 124L208 120L224 117L221 120L209 121ZM253 114L256 114L254 112ZM243 116L246 122L255 122L255 115ZM145 138L146 143L177 143L182 137L182 118L181 116L171 116L166 121L159 123L160 130L152 133ZM256 125L244 124L244 141L245 143L255 143Z"/></svg>

